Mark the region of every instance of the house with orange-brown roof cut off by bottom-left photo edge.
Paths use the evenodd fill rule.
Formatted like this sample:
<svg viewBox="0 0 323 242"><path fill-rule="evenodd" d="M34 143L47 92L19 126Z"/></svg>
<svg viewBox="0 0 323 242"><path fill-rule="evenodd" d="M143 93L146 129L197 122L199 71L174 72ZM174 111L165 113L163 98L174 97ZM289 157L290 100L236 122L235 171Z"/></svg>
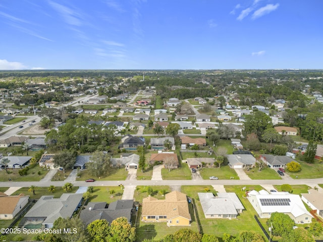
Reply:
<svg viewBox="0 0 323 242"><path fill-rule="evenodd" d="M27 204L29 196L8 196L0 192L0 219L13 219Z"/></svg>

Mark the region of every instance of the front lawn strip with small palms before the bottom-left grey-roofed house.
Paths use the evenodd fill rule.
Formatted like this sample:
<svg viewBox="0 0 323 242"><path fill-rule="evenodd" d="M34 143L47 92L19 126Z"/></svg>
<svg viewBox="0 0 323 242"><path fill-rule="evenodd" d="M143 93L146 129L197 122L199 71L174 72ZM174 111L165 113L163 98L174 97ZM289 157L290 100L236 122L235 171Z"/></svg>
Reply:
<svg viewBox="0 0 323 242"><path fill-rule="evenodd" d="M73 187L72 191L68 193L75 193L78 189L79 187ZM29 192L28 190L29 188L21 188L18 191L14 192L14 194L12 195L19 195L23 193L25 194L25 196L30 196L30 199L39 199L41 196L54 196L54 198L60 198L63 193L67 193L63 190L62 187L56 187L55 193L49 192L47 187L37 187L37 189L35 190L35 195L33 195L32 191Z"/></svg>

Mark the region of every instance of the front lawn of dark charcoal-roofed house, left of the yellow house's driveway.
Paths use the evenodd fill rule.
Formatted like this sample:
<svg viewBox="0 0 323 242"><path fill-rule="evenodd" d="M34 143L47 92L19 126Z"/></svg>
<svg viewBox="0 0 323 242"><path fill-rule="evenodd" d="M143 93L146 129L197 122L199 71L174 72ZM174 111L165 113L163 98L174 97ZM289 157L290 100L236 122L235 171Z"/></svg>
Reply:
<svg viewBox="0 0 323 242"><path fill-rule="evenodd" d="M111 194L109 193L109 191L112 190L115 191L113 197L111 197ZM110 204L122 199L122 195L123 190L121 187L94 187L94 192L91 193L89 202L106 202L107 204Z"/></svg>

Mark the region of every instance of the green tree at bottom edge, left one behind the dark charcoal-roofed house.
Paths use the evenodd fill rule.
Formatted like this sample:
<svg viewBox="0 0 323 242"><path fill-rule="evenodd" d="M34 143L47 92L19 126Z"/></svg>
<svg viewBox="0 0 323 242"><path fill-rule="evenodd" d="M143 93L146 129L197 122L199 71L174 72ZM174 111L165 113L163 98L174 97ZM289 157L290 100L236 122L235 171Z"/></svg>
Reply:
<svg viewBox="0 0 323 242"><path fill-rule="evenodd" d="M86 229L90 235L89 241L105 242L111 238L109 222L105 219L94 220L87 225Z"/></svg>

